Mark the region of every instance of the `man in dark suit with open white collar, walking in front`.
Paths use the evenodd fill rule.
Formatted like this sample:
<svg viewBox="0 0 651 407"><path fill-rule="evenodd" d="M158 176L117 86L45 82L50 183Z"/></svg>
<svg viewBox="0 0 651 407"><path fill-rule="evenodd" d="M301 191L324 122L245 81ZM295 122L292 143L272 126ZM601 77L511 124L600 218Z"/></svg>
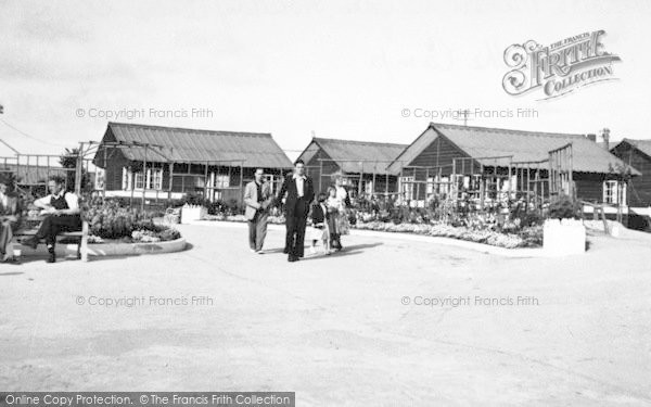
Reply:
<svg viewBox="0 0 651 407"><path fill-rule="evenodd" d="M285 199L285 253L288 262L297 262L303 257L305 243L305 225L309 214L309 205L315 199L315 189L311 178L305 175L303 160L294 163L294 174L285 177L278 192L278 200L286 193Z"/></svg>

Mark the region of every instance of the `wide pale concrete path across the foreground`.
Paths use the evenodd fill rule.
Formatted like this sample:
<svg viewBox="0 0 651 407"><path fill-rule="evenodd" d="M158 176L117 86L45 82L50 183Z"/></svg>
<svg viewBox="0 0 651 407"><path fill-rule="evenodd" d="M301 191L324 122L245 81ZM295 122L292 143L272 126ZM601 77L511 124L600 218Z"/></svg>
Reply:
<svg viewBox="0 0 651 407"><path fill-rule="evenodd" d="M651 405L651 239L508 258L344 238L289 264L186 252L0 266L0 387L295 391L298 406ZM426 305L425 305L426 304Z"/></svg>

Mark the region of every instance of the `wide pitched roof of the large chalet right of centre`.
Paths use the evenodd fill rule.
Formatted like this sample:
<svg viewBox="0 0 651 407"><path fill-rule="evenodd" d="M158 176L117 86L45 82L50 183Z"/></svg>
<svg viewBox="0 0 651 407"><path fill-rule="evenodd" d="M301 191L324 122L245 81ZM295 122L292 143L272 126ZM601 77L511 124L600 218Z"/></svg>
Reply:
<svg viewBox="0 0 651 407"><path fill-rule="evenodd" d="M400 166L408 166L439 135L443 135L459 149L478 163L495 165L490 156L512 155L513 162L535 162L549 157L549 151L572 143L572 165L574 171L612 173L617 165L626 165L620 158L595 141L583 135L523 131L489 127L472 127L431 123L427 129L391 164L392 173L399 173ZM506 166L509 160L497 161L498 166ZM639 175L635 168L634 175Z"/></svg>

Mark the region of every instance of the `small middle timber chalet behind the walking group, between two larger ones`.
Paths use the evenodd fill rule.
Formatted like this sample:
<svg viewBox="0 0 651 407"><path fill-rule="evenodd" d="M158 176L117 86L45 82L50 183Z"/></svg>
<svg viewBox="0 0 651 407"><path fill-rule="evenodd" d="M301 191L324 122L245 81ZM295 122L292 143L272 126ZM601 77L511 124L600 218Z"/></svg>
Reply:
<svg viewBox="0 0 651 407"><path fill-rule="evenodd" d="M298 158L305 162L315 188L324 192L341 175L353 196L391 194L397 191L396 175L387 165L407 144L312 138Z"/></svg>

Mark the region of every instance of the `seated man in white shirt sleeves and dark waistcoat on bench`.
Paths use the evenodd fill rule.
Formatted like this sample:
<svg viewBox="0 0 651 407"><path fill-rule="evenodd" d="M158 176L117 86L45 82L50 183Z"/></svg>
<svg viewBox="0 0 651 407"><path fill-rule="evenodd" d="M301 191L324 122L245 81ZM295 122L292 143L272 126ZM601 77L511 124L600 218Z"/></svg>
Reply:
<svg viewBox="0 0 651 407"><path fill-rule="evenodd" d="M79 198L65 191L63 177L50 177L48 189L50 190L49 195L34 201L34 205L42 209L41 215L46 215L46 218L38 228L36 236L24 240L23 244L36 249L39 241L44 239L50 253L48 263L54 263L56 262L54 254L56 234L81 230L81 211L79 209Z"/></svg>

